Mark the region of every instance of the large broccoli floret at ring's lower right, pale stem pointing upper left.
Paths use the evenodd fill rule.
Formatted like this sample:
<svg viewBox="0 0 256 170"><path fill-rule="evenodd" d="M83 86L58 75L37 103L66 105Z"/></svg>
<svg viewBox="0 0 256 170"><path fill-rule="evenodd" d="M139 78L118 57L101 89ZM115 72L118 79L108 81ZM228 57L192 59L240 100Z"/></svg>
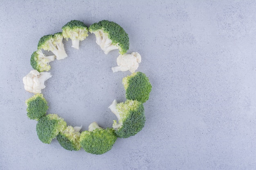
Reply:
<svg viewBox="0 0 256 170"><path fill-rule="evenodd" d="M117 137L127 138L139 132L145 124L144 106L137 100L126 100L117 104L114 100L108 107L117 116L113 128Z"/></svg>

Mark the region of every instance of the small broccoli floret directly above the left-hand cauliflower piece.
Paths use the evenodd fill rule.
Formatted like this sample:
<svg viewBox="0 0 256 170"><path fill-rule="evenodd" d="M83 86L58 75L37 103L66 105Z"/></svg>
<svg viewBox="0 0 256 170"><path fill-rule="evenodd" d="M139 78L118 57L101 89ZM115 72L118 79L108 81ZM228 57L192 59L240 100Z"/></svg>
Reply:
<svg viewBox="0 0 256 170"><path fill-rule="evenodd" d="M49 71L51 69L49 62L54 61L54 59L55 55L45 56L42 50L38 50L31 55L30 64L39 72Z"/></svg>

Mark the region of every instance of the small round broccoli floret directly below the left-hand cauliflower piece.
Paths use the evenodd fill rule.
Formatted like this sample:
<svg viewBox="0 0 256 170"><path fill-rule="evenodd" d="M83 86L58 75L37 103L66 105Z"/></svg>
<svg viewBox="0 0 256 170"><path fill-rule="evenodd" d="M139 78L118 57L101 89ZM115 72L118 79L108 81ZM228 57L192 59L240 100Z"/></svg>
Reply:
<svg viewBox="0 0 256 170"><path fill-rule="evenodd" d="M48 110L47 101L43 97L43 94L36 94L26 100L27 104L27 117L29 119L39 120L46 115Z"/></svg>

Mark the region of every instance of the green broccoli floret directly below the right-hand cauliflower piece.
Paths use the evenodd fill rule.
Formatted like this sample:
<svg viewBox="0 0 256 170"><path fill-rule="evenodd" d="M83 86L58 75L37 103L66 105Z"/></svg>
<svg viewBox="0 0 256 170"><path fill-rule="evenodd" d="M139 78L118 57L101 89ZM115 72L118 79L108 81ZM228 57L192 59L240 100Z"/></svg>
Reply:
<svg viewBox="0 0 256 170"><path fill-rule="evenodd" d="M126 99L137 100L141 103L148 100L152 86L144 73L136 72L124 77L123 84L126 90Z"/></svg>

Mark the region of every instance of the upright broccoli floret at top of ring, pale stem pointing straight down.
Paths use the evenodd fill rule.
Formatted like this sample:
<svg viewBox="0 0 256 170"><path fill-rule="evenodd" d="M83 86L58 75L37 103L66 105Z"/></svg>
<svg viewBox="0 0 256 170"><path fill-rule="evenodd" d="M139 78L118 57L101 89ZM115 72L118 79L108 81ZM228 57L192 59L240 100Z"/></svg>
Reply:
<svg viewBox="0 0 256 170"><path fill-rule="evenodd" d="M72 40L72 47L74 49L79 49L79 41L83 41L88 36L88 27L81 21L72 20L67 22L62 27L63 37L68 40Z"/></svg>

